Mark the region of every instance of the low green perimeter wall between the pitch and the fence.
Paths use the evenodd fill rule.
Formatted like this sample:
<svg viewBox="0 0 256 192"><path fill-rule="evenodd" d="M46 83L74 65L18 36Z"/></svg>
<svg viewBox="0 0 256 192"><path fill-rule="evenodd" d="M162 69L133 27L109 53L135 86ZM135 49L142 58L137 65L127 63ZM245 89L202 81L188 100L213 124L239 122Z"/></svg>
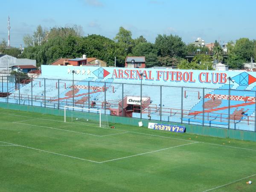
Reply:
<svg viewBox="0 0 256 192"><path fill-rule="evenodd" d="M34 106L28 106L28 105L16 105L16 104L1 103L1 102L0 102L0 108L64 116L64 110L58 110L58 109L52 109L52 108L42 108L42 107L34 107ZM108 116L108 121L114 122L114 123L122 123L125 125L135 125L135 126L138 125L138 122L142 121L143 126L145 127L148 126L148 122L161 123L160 121L151 121L151 120L149 121L147 119L137 119L137 118L128 118L128 117L120 117L120 116ZM164 122L164 124L166 123L167 122ZM240 131L240 130L232 130L232 129L225 129L225 128L212 128L207 126L187 125L187 124L179 124L179 123L172 123L172 122L170 122L170 124L183 125L186 127L186 133L190 133L190 134L199 134L199 135L206 135L206 136L212 136L212 137L256 141L256 132L251 132L251 131Z"/></svg>

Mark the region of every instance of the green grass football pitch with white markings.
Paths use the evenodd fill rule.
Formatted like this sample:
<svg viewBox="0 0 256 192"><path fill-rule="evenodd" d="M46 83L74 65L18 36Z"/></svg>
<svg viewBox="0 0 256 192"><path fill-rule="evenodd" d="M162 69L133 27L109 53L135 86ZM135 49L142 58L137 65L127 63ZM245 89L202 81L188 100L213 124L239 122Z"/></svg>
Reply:
<svg viewBox="0 0 256 192"><path fill-rule="evenodd" d="M112 125L0 108L0 191L256 191L255 142Z"/></svg>

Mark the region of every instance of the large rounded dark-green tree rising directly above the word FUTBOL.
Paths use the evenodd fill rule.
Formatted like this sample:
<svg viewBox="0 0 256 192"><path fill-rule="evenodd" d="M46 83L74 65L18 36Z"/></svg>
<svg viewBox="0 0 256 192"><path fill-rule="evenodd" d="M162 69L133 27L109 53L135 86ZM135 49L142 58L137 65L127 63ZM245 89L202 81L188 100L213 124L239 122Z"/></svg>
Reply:
<svg viewBox="0 0 256 192"><path fill-rule="evenodd" d="M158 55L170 58L185 58L186 44L177 35L158 35L155 41Z"/></svg>

